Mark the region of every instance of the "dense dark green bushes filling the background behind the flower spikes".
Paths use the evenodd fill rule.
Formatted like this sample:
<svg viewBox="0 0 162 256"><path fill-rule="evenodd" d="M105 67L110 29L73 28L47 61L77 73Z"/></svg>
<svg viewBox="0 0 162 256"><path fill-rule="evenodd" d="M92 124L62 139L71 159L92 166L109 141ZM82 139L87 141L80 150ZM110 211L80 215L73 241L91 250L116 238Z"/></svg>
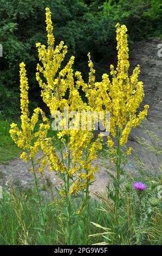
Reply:
<svg viewBox="0 0 162 256"><path fill-rule="evenodd" d="M73 54L75 69L88 72L87 53L92 54L98 70L96 77L105 72L115 60L115 24L125 23L129 43L149 36L160 36L161 1L21 1L1 0L0 43L0 110L3 114L18 114L18 66L23 60L28 66L30 100L38 101L39 91L35 80L36 41L45 42L44 8L49 5L53 13L55 35L58 43L63 40L69 47L67 59ZM36 104L35 104L36 105ZM35 106L34 106L35 107Z"/></svg>

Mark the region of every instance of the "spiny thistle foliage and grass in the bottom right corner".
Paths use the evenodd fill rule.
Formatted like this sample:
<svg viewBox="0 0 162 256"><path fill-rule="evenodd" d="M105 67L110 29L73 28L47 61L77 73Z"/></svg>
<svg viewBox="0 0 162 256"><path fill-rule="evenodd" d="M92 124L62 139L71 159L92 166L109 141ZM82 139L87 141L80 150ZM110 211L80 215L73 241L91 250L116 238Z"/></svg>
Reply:
<svg viewBox="0 0 162 256"><path fill-rule="evenodd" d="M120 210L119 222L116 225L116 220L113 212L113 200L111 193L108 196L96 193L96 196L102 200L102 207L100 211L104 211L109 216L109 223L103 226L100 222L93 223L101 225L102 229L109 228L114 234L109 234L104 237L99 233L100 242L108 242L117 245L161 245L161 209L162 202L158 198L157 187L160 182L156 181L156 186L152 186L151 181L145 181L147 186L146 191L139 192L133 190L132 180L127 179L127 183L120 191ZM109 241L107 241L109 239Z"/></svg>

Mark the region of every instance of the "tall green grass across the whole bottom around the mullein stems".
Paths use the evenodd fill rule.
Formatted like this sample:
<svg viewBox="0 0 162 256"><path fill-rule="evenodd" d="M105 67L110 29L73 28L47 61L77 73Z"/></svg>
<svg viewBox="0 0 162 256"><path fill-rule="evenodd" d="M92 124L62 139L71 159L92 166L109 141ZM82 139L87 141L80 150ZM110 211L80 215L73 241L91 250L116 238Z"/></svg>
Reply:
<svg viewBox="0 0 162 256"><path fill-rule="evenodd" d="M98 193L100 200L91 198L88 244L161 245L162 201L157 197L158 180L155 182L146 181L147 190L139 200L132 188L132 181L127 180L121 191L119 226L114 226L111 212L113 202L109 192L105 195ZM46 242L36 191L31 188L4 188L3 198L0 199L0 245L65 245L67 220L63 200L59 196L52 199L50 194L41 193L48 234ZM72 206L73 245L85 244L84 215L77 214L80 207L80 200L76 198ZM115 240L110 232L114 232Z"/></svg>

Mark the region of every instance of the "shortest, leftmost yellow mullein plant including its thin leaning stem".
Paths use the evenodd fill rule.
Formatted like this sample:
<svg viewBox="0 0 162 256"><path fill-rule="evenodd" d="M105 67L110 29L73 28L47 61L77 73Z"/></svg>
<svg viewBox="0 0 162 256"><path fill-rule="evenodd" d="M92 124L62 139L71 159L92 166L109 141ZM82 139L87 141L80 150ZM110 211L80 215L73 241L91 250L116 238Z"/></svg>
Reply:
<svg viewBox="0 0 162 256"><path fill-rule="evenodd" d="M31 172L34 173L35 177L35 185L38 194L38 199L41 208L41 214L43 219L44 231L46 234L46 241L47 241L47 232L46 232L46 223L44 220L44 215L42 211L42 204L40 199L40 193L38 190L37 178L36 178L36 162L35 162L35 155L39 150L39 147L42 141L45 142L43 147L48 147L46 143L46 138L48 134L48 130L50 128L49 120L46 118L46 115L40 108L36 108L34 110L33 115L29 116L29 99L28 99L28 78L25 70L25 64L20 64L20 90L21 90L21 128L18 127L17 124L12 123L10 129L10 136L14 140L14 142L23 149L23 153L21 154L21 158L23 161L31 161ZM40 123L39 128L36 130L36 125L39 120L39 115L42 116L42 123ZM40 172L43 171L43 167L46 166L46 158L43 157L39 159L39 162L42 161L41 168L38 168Z"/></svg>

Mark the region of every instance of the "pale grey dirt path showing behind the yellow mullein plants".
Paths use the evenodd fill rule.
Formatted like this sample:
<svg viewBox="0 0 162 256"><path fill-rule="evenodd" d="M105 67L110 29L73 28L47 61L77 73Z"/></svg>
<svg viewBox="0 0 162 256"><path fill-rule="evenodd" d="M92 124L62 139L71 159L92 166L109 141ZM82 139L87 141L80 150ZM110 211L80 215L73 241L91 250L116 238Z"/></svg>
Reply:
<svg viewBox="0 0 162 256"><path fill-rule="evenodd" d="M129 145L134 148L134 142L129 141ZM140 152L141 155L141 152ZM42 156L41 151L36 155L38 159ZM148 163L148 159L146 154L141 155L143 160ZM109 182L109 175L107 174L107 170L112 171L113 168L110 168L110 164L108 157L100 157L95 161L95 164L99 165L99 172L95 173L95 182L90 187L90 191L92 192L104 192L106 190L106 186ZM133 177L138 176L138 170L134 167L135 163L133 163L132 157L129 159L128 163L124 167L127 174ZM1 186L9 186L10 182L17 187L22 188L30 188L34 187L34 174L30 172L31 164L29 162L24 162L18 157L15 160L11 160L9 164L0 164L0 185ZM151 170L150 170L151 172ZM60 183L59 175L56 172L50 172L49 167L47 166L44 169L43 174L36 173L39 184L41 187L48 187L48 184L52 184L53 190L55 191L55 187L57 187Z"/></svg>

